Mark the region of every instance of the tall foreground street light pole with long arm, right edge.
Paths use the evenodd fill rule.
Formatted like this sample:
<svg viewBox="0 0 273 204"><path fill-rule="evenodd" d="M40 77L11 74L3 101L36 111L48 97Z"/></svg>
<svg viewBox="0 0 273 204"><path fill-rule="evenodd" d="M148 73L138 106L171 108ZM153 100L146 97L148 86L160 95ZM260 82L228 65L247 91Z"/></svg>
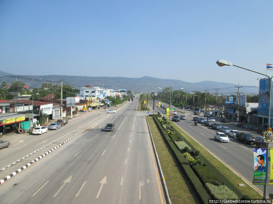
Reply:
<svg viewBox="0 0 273 204"><path fill-rule="evenodd" d="M241 66L237 66L229 61L226 61L226 60L217 60L216 64L218 66L236 66L236 67L239 67L241 69L244 69L244 70L248 70L248 71L251 71L251 72L255 72L257 74L261 74L261 75L264 75L264 76L267 76L268 79L269 79L269 109L268 109L268 121L267 121L267 130L271 132L271 128L270 128L270 111L271 111L271 81L272 81L272 78L273 76L268 76L266 74L263 74L263 73L260 73L260 72L256 72L254 70L250 70L250 69L247 69L247 68L244 68L244 67L241 67ZM269 160L269 155L268 155L268 149L269 149L269 143L267 142L266 143L266 162L268 162ZM268 163L266 164L266 169L265 169L265 185L264 185L264 195L263 195L263 198L266 198L266 194L267 194L267 183L268 183Z"/></svg>

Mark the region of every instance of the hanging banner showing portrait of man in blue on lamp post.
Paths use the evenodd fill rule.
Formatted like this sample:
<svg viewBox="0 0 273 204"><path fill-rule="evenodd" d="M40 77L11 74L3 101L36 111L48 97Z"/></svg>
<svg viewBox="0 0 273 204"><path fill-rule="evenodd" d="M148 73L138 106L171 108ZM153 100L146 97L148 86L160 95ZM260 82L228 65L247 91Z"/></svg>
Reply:
<svg viewBox="0 0 273 204"><path fill-rule="evenodd" d="M265 184L265 171L266 171L266 149L253 149L254 157L254 176L253 184Z"/></svg>

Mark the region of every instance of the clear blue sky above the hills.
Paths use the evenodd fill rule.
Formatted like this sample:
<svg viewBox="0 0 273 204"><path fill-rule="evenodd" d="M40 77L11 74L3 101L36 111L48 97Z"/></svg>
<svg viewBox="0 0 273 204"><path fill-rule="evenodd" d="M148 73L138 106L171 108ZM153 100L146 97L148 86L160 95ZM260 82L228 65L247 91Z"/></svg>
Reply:
<svg viewBox="0 0 273 204"><path fill-rule="evenodd" d="M0 70L258 86L273 1L0 1ZM273 72L268 72L272 76Z"/></svg>

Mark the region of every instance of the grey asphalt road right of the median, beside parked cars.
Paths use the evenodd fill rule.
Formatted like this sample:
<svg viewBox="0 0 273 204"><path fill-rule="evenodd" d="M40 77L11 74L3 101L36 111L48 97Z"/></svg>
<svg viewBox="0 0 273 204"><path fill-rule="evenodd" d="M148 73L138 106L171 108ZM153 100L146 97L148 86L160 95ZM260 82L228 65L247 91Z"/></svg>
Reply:
<svg viewBox="0 0 273 204"><path fill-rule="evenodd" d="M151 106L152 107L152 106ZM157 110L155 108L155 110ZM159 108L159 112L164 113L164 109ZM213 153L218 159L220 159L224 164L229 166L234 172L236 172L240 177L244 178L251 186L257 189L261 194L263 194L263 185L252 185L254 165L253 165L253 148L255 145L244 144L237 139L230 138L228 143L220 143L214 140L214 134L217 132L211 127L207 127L204 124L199 124L194 126L192 117L198 115L191 115L190 111L186 110L185 114L177 112L177 115L186 115L186 120L180 120L180 122L174 122L185 132L187 132L191 137L198 141L201 145L206 147L211 153ZM200 115L202 117L202 115ZM232 123L222 123L223 126L227 126L233 130L238 130L241 132L250 132L253 136L259 135L257 132L249 131L244 128L239 128L234 126ZM269 162L268 162L269 163ZM268 175L269 176L269 175ZM273 192L273 185L268 185L267 195Z"/></svg>

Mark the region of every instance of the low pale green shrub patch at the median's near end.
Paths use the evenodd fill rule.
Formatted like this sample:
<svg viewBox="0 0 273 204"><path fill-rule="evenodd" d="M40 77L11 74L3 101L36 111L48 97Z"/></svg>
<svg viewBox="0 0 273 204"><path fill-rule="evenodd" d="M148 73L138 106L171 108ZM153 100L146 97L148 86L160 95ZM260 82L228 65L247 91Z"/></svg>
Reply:
<svg viewBox="0 0 273 204"><path fill-rule="evenodd" d="M229 198L229 199L238 199L238 196L227 186L215 186L211 183L205 184L206 189L210 192L210 194L217 199L221 198Z"/></svg>

